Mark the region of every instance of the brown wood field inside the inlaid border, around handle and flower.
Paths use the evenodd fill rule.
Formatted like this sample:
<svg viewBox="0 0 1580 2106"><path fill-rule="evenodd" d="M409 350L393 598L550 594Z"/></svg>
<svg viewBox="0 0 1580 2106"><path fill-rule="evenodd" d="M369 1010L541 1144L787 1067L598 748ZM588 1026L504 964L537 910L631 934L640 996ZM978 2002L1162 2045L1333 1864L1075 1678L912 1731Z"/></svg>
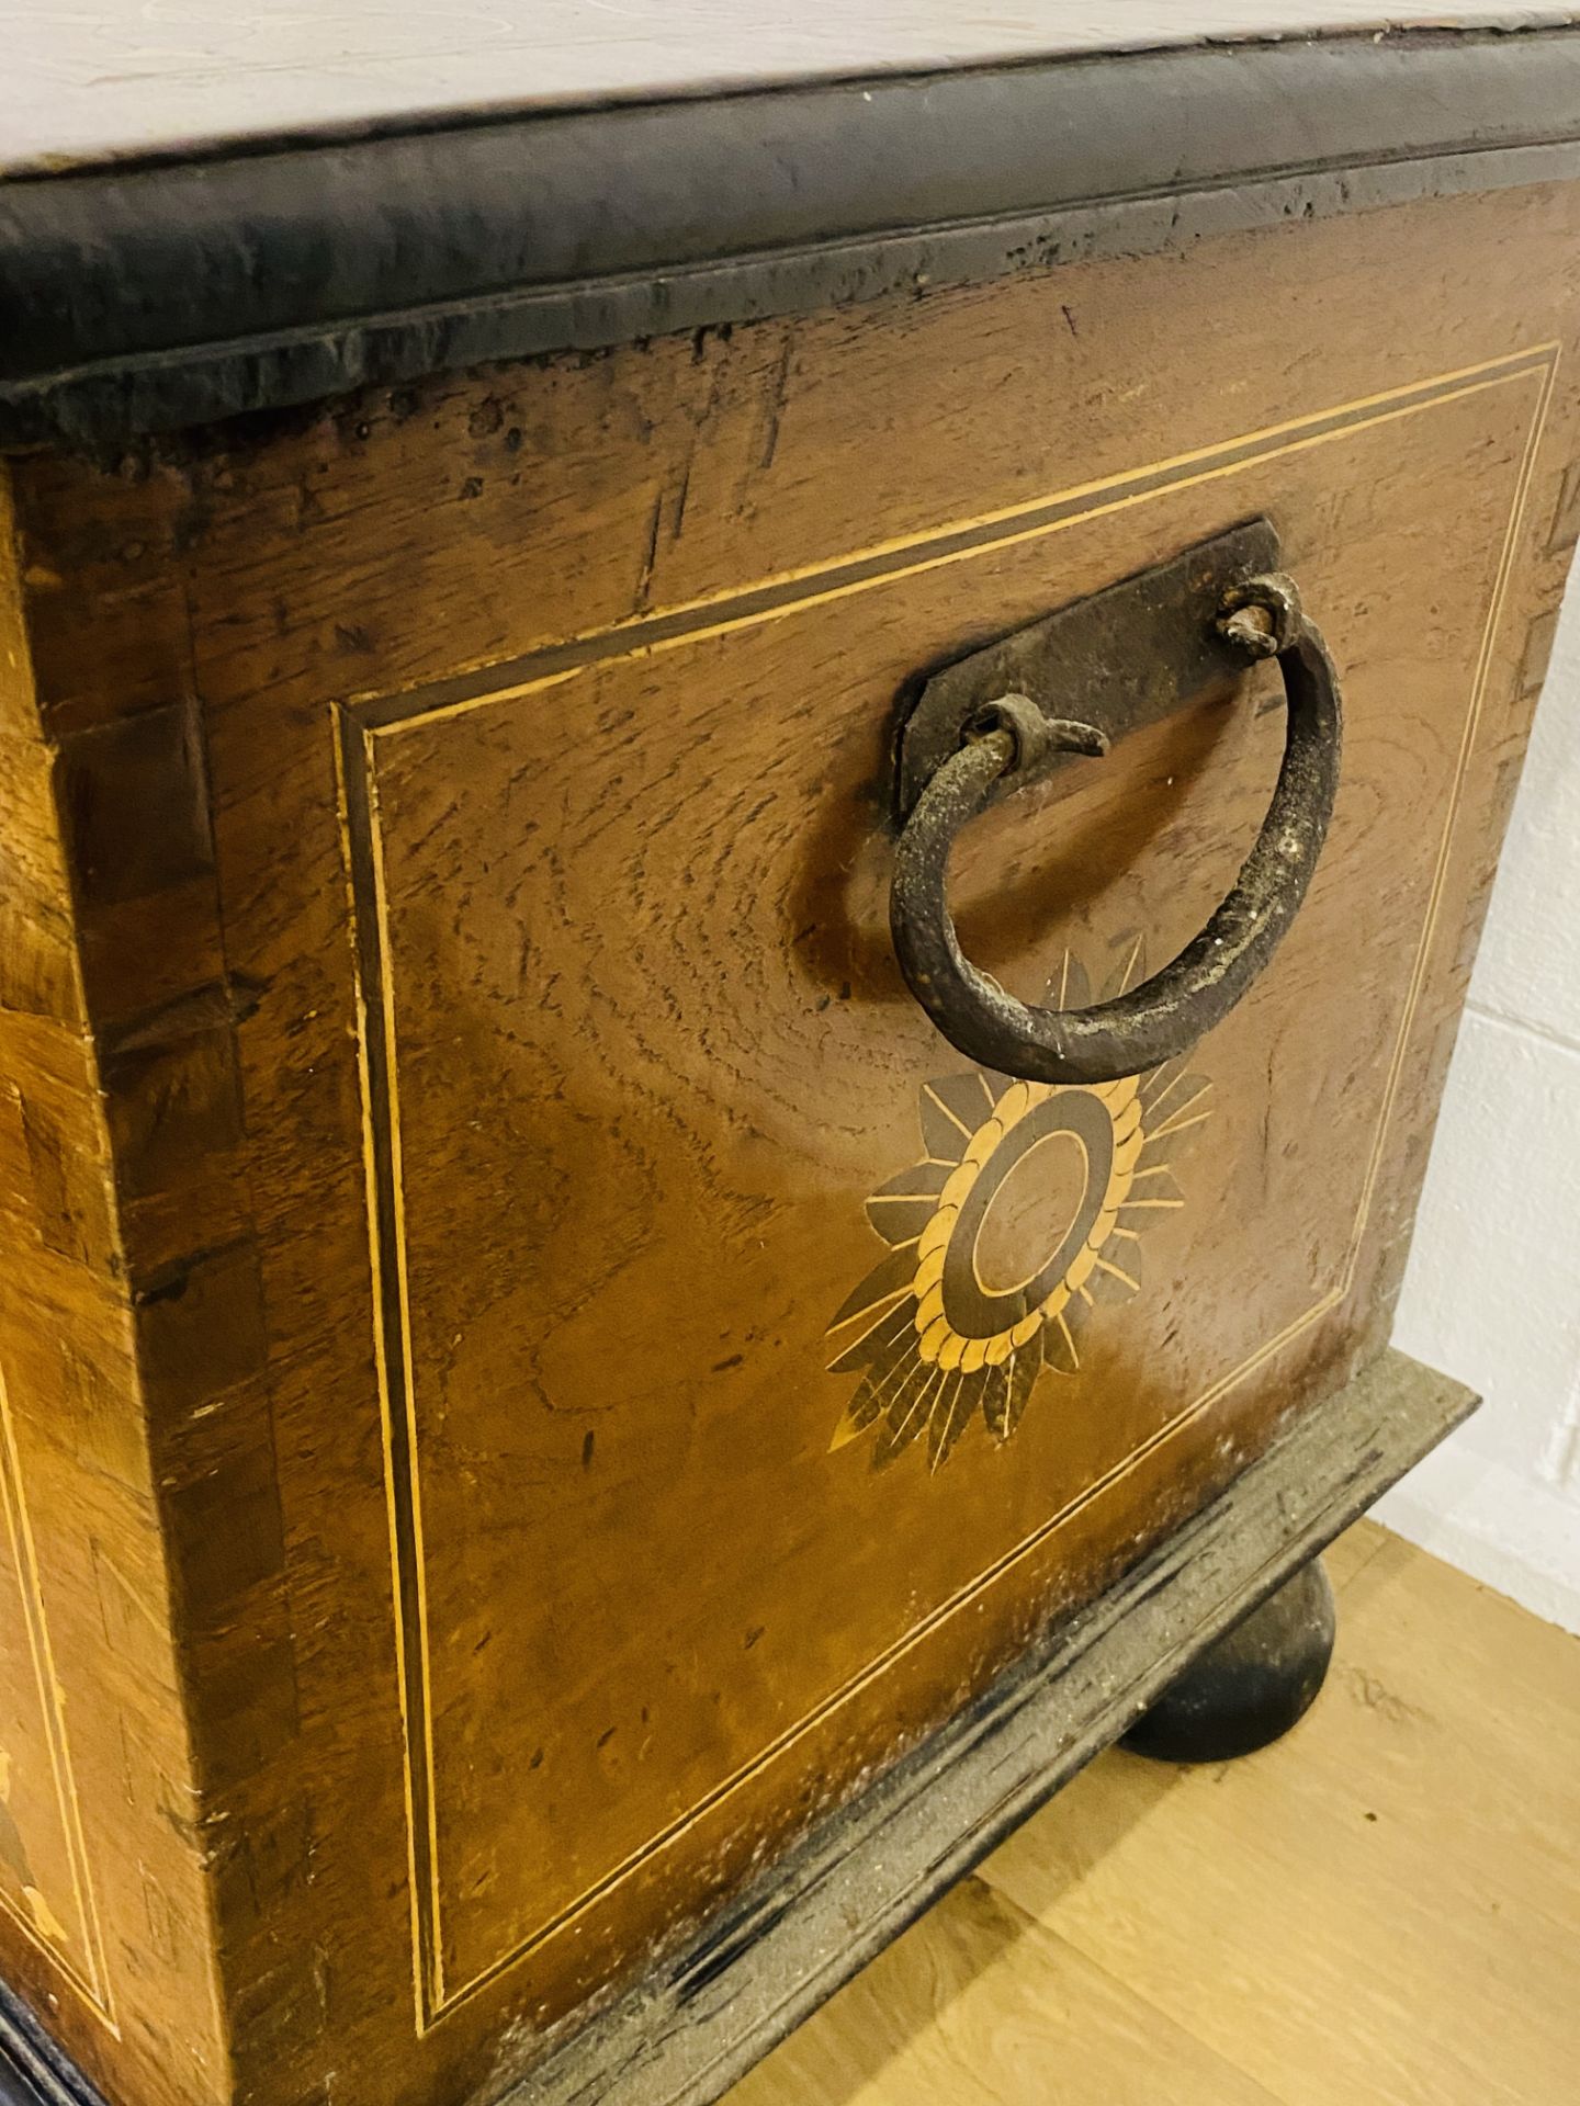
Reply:
<svg viewBox="0 0 1580 2106"><path fill-rule="evenodd" d="M1477 663L1544 385L1521 366L1342 446L1348 484L1407 474L1441 522L1416 556L1439 609L1422 632L1371 590L1397 518L1329 510L1338 442L1270 449L1213 493L1211 526L1277 505L1312 609L1340 611L1336 649L1367 670L1346 798L1264 988L1144 1082L1140 1181L1003 1447L965 1375L940 1386L925 1443L925 1363L906 1384L904 1360L885 1426L830 1447L862 1318L830 1325L885 1234L914 1274L906 1238L988 1129L980 1080L893 969L872 826L887 706L950 634L1186 545L1201 491L1077 518L1053 550L988 543L948 600L933 569L885 575L463 714L415 699L371 739L375 868L360 847L354 868L388 1007L369 1118L400 1163L386 1379L421 1588L404 1643L434 2013L516 1952L548 1971L531 1954L554 1933L598 1967L605 1889L611 1916L685 1908L683 1857L748 1862L754 1807L777 1824L786 1796L826 1803L933 1723L940 1695L1091 1588L1108 1531L1178 1510L1194 1472L1232 1468L1352 1350L1344 1302L1435 908L1420 842L1449 826L1479 706L1449 668ZM956 859L967 946L1026 996L1066 952L1093 990L1142 931L1178 952L1256 832L1281 727L1218 699L994 815ZM1020 1278L1058 1249L1087 1171L1066 1146L1005 1184L977 1276ZM868 1203L919 1160L921 1198ZM914 1339L893 1285L883 1272L872 1293ZM969 1430L944 1422L956 1400Z"/></svg>

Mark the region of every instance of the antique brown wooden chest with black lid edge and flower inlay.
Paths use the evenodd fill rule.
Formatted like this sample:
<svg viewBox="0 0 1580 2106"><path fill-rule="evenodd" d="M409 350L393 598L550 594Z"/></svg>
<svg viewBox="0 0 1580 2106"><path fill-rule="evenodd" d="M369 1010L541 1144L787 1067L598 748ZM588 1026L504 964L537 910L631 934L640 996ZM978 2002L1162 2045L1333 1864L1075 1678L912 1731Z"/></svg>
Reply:
<svg viewBox="0 0 1580 2106"><path fill-rule="evenodd" d="M11 156L53 2102L714 2098L1468 1405L1386 1339L1580 533L1580 38L937 57Z"/></svg>

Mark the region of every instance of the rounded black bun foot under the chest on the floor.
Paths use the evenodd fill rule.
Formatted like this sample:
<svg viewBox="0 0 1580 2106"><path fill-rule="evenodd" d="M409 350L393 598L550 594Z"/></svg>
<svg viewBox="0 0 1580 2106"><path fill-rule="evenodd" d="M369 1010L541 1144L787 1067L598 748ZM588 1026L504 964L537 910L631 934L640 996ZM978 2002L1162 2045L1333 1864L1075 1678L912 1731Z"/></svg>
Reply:
<svg viewBox="0 0 1580 2106"><path fill-rule="evenodd" d="M1159 1763L1228 1763L1279 1740L1317 1702L1334 1657L1334 1590L1321 1558L1199 1653L1125 1733Z"/></svg>

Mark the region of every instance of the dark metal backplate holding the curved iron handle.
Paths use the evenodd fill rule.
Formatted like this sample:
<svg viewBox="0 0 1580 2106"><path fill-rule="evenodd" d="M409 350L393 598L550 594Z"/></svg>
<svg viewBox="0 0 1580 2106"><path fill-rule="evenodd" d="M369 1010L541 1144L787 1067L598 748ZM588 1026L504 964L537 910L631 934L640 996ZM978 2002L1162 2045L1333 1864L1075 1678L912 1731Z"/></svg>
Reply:
<svg viewBox="0 0 1580 2106"><path fill-rule="evenodd" d="M935 672L900 733L897 817L910 815L965 727L999 695L1028 695L1043 716L1098 724L1117 746L1239 678L1247 657L1218 634L1220 600L1243 577L1277 569L1272 522L1247 520ZM1024 783L1022 773L1007 775L1003 792Z"/></svg>

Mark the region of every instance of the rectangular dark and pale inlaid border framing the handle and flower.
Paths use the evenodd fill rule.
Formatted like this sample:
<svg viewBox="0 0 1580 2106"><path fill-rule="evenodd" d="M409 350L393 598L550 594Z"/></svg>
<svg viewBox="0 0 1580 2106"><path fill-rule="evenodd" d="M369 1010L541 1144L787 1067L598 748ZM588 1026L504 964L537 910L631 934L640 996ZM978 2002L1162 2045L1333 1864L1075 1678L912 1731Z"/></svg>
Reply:
<svg viewBox="0 0 1580 2106"><path fill-rule="evenodd" d="M390 1548L396 1598L396 1647L400 1670L400 1702L404 1731L407 1836L413 1914L413 1988L417 2032L423 2034L447 2011L476 1994L508 1967L552 1938L569 1921L594 1906L617 1887L638 1864L664 1849L697 1817L737 1790L748 1777L773 1763L786 1748L819 1725L830 1712L857 1695L876 1676L927 1638L940 1624L963 1609L984 1588L992 1586L1013 1565L1047 1542L1091 1499L1129 1474L1140 1462L1209 1411L1228 1390L1289 1346L1302 1331L1338 1308L1355 1283L1355 1270L1365 1238L1365 1226L1376 1194L1388 1127L1399 1093L1399 1080L1409 1051L1426 967L1430 958L1443 887L1449 872L1454 830L1464 796L1464 783L1475 748L1487 674L1496 647L1498 621L1504 609L1508 577L1515 562L1519 529L1525 514L1536 451L1542 436L1553 381L1557 375L1557 343L1538 343L1489 358L1473 366L1437 373L1405 388L1342 402L1327 411L1262 425L1213 446L1148 461L1125 474L1074 484L1053 495L1036 497L971 520L956 520L925 533L876 543L853 556L784 571L737 592L687 600L653 615L592 630L565 644L535 651L506 665L430 684L402 695L367 695L337 703L335 752L341 790L341 826L350 891L352 937L356 950L358 1059L362 1078L362 1135L369 1194L369 1245L375 1278L373 1327L379 1369L379 1409L386 1443L386 1495L390 1512ZM560 687L590 665L615 659L643 659L680 644L756 628L809 607L828 604L900 577L914 577L944 564L969 560L988 550L1043 539L1085 520L1125 512L1152 497L1226 480L1251 463L1308 453L1350 434L1395 423L1449 402L1519 381L1536 383L1536 400L1525 434L1525 451L1515 478L1508 524L1494 575L1487 621L1477 653L1470 697L1466 703L1460 750L1454 764L1449 807L1433 866L1422 935L1405 992L1405 1007L1388 1066L1378 1131L1367 1163L1361 1203L1338 1280L1304 1314L1275 1337L1268 1337L1239 1367L1220 1375L1211 1388L1176 1413L1123 1462L1087 1485L1081 1495L1051 1514L1022 1544L996 1558L967 1588L921 1617L904 1638L868 1662L860 1674L832 1691L794 1727L763 1748L750 1763L723 1780L704 1801L649 1839L640 1851L613 1866L584 1895L562 1908L531 1938L499 1954L487 1969L461 1984L447 1984L440 1940L438 1820L434 1805L434 1742L430 1700L430 1632L426 1603L426 1550L421 1525L421 1472L415 1398L411 1394L411 1308L407 1291L407 1234L400 1163L400 1093L396 1057L396 1009L390 952L390 914L386 895L383 836L379 821L377 748L381 739L398 737L415 724L434 724L472 710L516 701Z"/></svg>

